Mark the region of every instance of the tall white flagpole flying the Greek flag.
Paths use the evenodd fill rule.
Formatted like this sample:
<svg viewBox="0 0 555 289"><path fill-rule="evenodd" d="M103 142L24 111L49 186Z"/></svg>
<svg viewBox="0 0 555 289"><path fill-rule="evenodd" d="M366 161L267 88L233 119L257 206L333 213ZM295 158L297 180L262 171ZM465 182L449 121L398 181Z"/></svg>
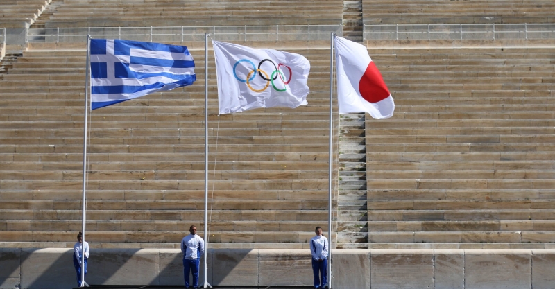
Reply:
<svg viewBox="0 0 555 289"><path fill-rule="evenodd" d="M89 46L91 36L87 35L87 61L85 67L85 125L83 132L83 243L81 243L81 287L85 287L85 199L87 194L87 116L89 102Z"/></svg>

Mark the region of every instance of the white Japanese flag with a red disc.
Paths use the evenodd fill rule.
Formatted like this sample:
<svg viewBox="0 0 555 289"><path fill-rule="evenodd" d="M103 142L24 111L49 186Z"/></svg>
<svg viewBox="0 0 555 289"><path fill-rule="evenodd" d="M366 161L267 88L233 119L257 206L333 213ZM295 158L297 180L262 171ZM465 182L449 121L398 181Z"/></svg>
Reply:
<svg viewBox="0 0 555 289"><path fill-rule="evenodd" d="M393 116L395 103L366 47L335 37L339 113L368 112L374 119Z"/></svg>

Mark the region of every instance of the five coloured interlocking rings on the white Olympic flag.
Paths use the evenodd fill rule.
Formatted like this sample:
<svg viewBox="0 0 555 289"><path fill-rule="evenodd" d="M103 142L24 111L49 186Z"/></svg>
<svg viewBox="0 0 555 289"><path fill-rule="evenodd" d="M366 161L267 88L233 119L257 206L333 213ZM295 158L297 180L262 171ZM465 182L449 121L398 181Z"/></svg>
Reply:
<svg viewBox="0 0 555 289"><path fill-rule="evenodd" d="M239 78L239 76L237 76L237 65L239 65L239 63L241 63L241 62L248 62L248 64L250 64L253 67L253 69L251 69L250 72L247 74L246 79L241 79L241 78ZM262 64L264 62L271 62L271 64L274 67L274 71L272 71L270 76L268 76L268 73L266 73L266 71L262 70ZM287 69L289 70L289 80L287 80L287 82L285 81L284 73L280 69L281 67L287 67ZM262 89L254 89L251 86L251 82L255 79L255 77L257 75L260 76L260 78L262 78L262 80L266 80L266 85ZM293 78L293 71L291 71L291 67L288 67L287 65L282 64L282 63L278 63L278 66L276 66L275 63L271 59L267 59L267 58L260 61L258 63L258 67L255 66L255 64L250 60L241 59L241 60L235 62L234 66L233 66L233 76L235 76L235 78L237 80L239 80L240 82L245 82L247 84L247 87L250 90L254 91L254 92L260 93L262 91L265 91L270 86L270 84L272 85L273 89L275 89L275 91L283 92L283 91L287 90L287 85L289 84L289 82L291 82L291 79ZM284 85L283 89L279 89L275 85L275 80L278 80L278 77L280 78L281 82Z"/></svg>

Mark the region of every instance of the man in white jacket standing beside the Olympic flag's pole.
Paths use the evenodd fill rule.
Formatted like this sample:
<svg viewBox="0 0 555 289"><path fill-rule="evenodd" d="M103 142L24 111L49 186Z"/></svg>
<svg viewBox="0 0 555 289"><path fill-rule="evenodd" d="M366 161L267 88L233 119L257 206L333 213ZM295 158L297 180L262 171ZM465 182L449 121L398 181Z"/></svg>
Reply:
<svg viewBox="0 0 555 289"><path fill-rule="evenodd" d="M200 267L200 256L204 254L204 240L196 234L196 226L189 227L189 236L181 240L181 252L183 253L183 275L185 277L185 288L189 288L189 272L193 273L193 287L198 287L198 271Z"/></svg>

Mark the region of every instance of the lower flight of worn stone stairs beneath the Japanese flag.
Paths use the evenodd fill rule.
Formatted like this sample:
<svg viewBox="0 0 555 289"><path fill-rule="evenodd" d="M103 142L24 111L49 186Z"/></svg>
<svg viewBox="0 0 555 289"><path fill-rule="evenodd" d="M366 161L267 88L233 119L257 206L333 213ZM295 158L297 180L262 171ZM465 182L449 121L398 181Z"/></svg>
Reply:
<svg viewBox="0 0 555 289"><path fill-rule="evenodd" d="M367 248L364 114L341 114L339 128L339 248Z"/></svg>

